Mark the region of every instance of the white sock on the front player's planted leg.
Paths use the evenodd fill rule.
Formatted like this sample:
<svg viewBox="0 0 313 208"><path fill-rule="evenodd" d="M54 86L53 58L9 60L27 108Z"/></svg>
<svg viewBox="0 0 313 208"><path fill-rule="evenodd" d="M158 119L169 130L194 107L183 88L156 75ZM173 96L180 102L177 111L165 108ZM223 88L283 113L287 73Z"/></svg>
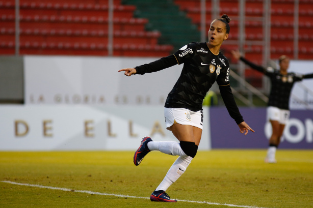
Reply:
<svg viewBox="0 0 313 208"><path fill-rule="evenodd" d="M159 191L159 190L166 191L168 187L170 187L178 179L178 177L180 177L180 175L182 175L182 173L186 171L192 159L193 158L190 156L178 157L177 160L173 163L171 168L166 173L161 184L155 189L155 191Z"/></svg>

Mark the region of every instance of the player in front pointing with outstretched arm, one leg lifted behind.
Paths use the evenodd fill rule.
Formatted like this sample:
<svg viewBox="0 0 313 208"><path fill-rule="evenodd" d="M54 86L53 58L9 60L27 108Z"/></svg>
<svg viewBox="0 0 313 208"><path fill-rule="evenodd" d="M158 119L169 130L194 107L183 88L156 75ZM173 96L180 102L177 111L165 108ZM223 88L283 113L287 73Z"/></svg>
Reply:
<svg viewBox="0 0 313 208"><path fill-rule="evenodd" d="M212 84L217 81L222 98L230 116L236 121L241 133L254 132L243 120L229 85L229 64L220 52L228 38L230 19L223 15L215 19L208 31L208 42L192 42L174 54L135 68L121 69L126 76L145 74L183 64L180 77L165 102L165 123L179 143L174 141L152 141L144 137L134 155L135 165L153 150L179 157L167 172L164 180L153 191L151 201L176 202L165 191L182 175L195 157L202 134L202 101Z"/></svg>

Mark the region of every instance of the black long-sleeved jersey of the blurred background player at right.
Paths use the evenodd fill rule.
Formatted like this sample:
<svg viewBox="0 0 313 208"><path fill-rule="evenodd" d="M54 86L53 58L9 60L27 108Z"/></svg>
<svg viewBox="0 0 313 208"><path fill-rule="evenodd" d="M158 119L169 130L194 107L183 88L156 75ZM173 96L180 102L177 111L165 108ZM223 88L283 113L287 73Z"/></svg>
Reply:
<svg viewBox="0 0 313 208"><path fill-rule="evenodd" d="M282 75L277 69L271 67L263 68L262 66L254 65L243 57L241 57L240 60L249 65L252 69L262 72L270 78L271 92L268 106L289 110L289 98L292 87L296 81L301 81L304 76L295 73ZM307 76L307 78L309 78L309 76Z"/></svg>

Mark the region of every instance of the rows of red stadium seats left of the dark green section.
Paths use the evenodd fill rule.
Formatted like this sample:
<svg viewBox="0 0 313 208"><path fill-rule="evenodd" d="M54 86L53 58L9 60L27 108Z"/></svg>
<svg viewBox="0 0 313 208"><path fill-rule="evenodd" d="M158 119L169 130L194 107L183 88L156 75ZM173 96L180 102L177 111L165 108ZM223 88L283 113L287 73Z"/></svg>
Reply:
<svg viewBox="0 0 313 208"><path fill-rule="evenodd" d="M21 0L19 53L108 55L108 2ZM134 18L135 9L114 1L113 55L169 55L173 46L159 45L160 32L146 31L148 20ZM14 54L15 1L0 0L0 14L0 54Z"/></svg>

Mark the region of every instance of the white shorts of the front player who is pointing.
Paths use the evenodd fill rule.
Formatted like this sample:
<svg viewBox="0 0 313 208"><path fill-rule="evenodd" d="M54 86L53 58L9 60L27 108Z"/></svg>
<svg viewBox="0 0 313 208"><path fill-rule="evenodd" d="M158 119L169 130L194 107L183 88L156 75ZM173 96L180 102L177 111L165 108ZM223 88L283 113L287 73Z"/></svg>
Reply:
<svg viewBox="0 0 313 208"><path fill-rule="evenodd" d="M191 125L203 129L203 111L197 112L186 108L164 108L166 129L173 124Z"/></svg>

